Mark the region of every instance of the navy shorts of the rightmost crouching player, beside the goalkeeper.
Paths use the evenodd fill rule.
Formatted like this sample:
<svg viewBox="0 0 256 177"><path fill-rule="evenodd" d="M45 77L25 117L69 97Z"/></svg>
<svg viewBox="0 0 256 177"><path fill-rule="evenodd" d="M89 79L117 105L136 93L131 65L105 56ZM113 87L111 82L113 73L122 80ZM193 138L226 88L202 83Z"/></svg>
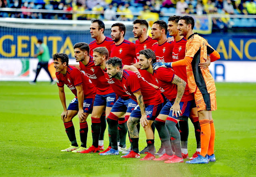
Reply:
<svg viewBox="0 0 256 177"><path fill-rule="evenodd" d="M190 115L191 109L193 107L193 102L195 102L195 101L191 100L191 101L180 102L180 110L181 110L182 114L181 114L181 116L176 117L175 113L174 113L174 116L172 116L172 111L170 110L170 108L174 104L174 101L170 101L169 100L164 105L164 107L161 110L160 114L168 115L168 117L172 117L174 119L188 121L188 116Z"/></svg>

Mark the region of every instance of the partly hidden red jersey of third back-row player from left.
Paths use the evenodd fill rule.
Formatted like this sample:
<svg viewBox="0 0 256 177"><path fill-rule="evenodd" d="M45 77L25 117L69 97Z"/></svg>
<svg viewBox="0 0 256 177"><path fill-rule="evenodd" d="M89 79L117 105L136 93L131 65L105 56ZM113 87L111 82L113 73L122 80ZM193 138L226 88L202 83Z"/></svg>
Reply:
<svg viewBox="0 0 256 177"><path fill-rule="evenodd" d="M135 45L136 45L136 62L139 62L139 52L140 50L144 50L144 49L152 49L152 46L154 43L156 43L157 40L152 40L151 37L148 36L148 38L140 43L139 40L136 40ZM157 82L156 82L156 78L152 76L152 74L150 74L149 72L147 72L146 70L139 70L141 77L143 77L146 81L148 81L151 84L154 84L155 86L158 86Z"/></svg>

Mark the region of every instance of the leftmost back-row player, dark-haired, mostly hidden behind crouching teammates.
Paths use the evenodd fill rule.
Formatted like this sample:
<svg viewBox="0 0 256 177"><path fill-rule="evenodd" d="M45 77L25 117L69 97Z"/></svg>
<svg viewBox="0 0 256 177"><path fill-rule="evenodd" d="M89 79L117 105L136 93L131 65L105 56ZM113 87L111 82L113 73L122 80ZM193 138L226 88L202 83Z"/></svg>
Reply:
<svg viewBox="0 0 256 177"><path fill-rule="evenodd" d="M90 26L90 33L91 37L95 40L89 44L90 47L90 56L93 54L93 50L97 47L105 47L108 49L108 52L110 52L110 45L114 42L111 38L106 37L104 35L105 30L105 24L102 22L102 20L92 20L92 24ZM104 132L106 129L106 113L103 111L101 117L100 117L100 137L99 137L99 148L100 150L104 150Z"/></svg>

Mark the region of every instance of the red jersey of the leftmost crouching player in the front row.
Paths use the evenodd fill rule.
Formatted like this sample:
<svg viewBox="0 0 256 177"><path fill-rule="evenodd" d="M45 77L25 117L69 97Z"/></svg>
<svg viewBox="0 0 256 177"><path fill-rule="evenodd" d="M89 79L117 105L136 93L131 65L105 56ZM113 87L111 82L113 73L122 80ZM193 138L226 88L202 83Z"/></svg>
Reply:
<svg viewBox="0 0 256 177"><path fill-rule="evenodd" d="M92 81L74 66L68 66L67 73L65 75L61 74L60 72L56 72L55 75L57 78L57 85L59 87L64 87L64 84L66 84L76 97L76 86L79 86L81 84L84 90L84 98L95 97L96 88L92 84Z"/></svg>

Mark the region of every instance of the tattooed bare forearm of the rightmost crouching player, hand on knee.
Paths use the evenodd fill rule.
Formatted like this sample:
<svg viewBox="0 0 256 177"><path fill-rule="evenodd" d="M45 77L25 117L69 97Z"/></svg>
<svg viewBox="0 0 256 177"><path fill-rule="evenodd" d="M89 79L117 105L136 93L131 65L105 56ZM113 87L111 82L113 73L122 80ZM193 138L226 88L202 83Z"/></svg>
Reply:
<svg viewBox="0 0 256 177"><path fill-rule="evenodd" d="M184 94L186 82L175 75L172 80L172 84L177 85L177 96L174 101L174 104L171 107L171 110L173 109L172 116L174 116L174 112L175 112L176 117L178 117L178 115L180 116L180 114L182 113L180 110L180 100L182 99L182 96Z"/></svg>

